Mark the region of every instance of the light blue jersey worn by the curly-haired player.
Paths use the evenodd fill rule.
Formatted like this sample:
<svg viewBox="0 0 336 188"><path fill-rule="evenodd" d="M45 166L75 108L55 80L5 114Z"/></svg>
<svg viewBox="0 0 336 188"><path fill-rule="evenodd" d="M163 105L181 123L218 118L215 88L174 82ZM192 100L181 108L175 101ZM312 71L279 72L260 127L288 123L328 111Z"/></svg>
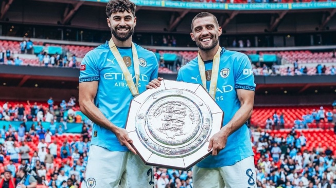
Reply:
<svg viewBox="0 0 336 188"><path fill-rule="evenodd" d="M140 68L138 89L139 93L142 93L146 90L146 85L157 78L158 63L153 52L136 44L135 47ZM132 48L118 47L118 51L126 65L130 65L128 70L136 84ZM133 96L108 42L88 52L81 63L79 82L90 81L99 82L95 105L113 124L125 128ZM128 151L126 146L120 145L112 131L94 124L92 133L91 145L98 145L110 151Z"/></svg>

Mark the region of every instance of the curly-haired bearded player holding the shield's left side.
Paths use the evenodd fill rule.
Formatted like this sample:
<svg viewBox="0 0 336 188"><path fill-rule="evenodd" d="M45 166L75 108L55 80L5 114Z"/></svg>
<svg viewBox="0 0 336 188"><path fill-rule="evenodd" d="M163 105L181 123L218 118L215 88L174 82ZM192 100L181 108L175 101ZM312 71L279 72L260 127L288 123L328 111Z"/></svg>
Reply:
<svg viewBox="0 0 336 188"><path fill-rule="evenodd" d="M155 54L132 42L135 9L129 0L109 1L106 14L111 40L88 52L80 65L80 110L94 122L82 187L154 184L148 173L153 168L136 155L125 129L133 97L144 92L150 81L158 82Z"/></svg>

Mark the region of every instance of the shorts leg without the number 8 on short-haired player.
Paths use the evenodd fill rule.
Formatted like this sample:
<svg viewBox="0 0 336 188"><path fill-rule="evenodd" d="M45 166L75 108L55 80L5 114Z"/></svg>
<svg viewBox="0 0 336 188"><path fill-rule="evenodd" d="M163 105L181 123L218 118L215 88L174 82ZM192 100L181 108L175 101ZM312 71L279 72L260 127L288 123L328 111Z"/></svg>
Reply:
<svg viewBox="0 0 336 188"><path fill-rule="evenodd" d="M225 187L219 168L192 168L193 188L223 188Z"/></svg>

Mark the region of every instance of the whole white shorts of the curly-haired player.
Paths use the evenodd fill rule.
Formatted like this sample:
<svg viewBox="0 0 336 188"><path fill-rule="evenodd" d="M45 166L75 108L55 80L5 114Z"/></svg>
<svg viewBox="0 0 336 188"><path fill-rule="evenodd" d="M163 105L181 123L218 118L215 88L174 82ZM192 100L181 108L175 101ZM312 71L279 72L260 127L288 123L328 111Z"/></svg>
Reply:
<svg viewBox="0 0 336 188"><path fill-rule="evenodd" d="M91 145L85 172L87 188L153 188L153 167L132 152L111 152Z"/></svg>

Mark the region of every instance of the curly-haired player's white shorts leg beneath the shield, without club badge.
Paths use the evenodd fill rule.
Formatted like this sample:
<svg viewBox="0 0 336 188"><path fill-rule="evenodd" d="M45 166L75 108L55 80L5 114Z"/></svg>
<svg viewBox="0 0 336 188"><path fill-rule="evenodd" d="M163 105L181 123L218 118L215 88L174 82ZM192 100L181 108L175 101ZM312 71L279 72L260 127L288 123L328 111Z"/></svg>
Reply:
<svg viewBox="0 0 336 188"><path fill-rule="evenodd" d="M153 167L145 165L138 155L128 152L126 171L122 174L120 188L153 188Z"/></svg>

